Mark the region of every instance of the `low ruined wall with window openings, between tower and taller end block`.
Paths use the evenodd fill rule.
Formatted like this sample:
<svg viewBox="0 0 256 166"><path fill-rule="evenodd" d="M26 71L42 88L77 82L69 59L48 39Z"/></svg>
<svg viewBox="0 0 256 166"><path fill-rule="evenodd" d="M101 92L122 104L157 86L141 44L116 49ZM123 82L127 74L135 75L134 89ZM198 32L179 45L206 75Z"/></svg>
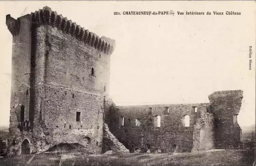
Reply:
<svg viewBox="0 0 256 166"><path fill-rule="evenodd" d="M207 103L112 106L108 113L110 131L130 152L141 151L190 152L193 144L193 131L197 118L207 111ZM197 112L195 112L197 107ZM150 111L150 109L152 110ZM169 108L169 109L168 109ZM169 112L168 112L169 110ZM161 125L157 127L157 116ZM190 117L190 126L184 126L184 117ZM124 125L122 124L124 117ZM140 119L140 125L136 125Z"/></svg>

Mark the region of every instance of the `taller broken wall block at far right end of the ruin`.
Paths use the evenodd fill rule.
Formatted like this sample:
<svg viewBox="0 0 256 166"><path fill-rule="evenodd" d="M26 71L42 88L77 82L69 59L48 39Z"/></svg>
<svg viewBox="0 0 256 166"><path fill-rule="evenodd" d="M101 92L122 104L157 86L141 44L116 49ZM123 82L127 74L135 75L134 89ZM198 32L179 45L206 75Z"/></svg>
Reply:
<svg viewBox="0 0 256 166"><path fill-rule="evenodd" d="M216 149L237 149L241 145L241 128L237 123L243 91L218 91L209 95L215 116Z"/></svg>

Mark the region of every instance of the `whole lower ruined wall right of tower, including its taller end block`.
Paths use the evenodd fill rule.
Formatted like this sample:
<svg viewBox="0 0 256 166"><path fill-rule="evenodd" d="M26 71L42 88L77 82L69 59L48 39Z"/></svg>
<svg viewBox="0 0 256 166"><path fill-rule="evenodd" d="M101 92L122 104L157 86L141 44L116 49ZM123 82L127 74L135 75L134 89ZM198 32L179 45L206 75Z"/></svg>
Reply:
<svg viewBox="0 0 256 166"><path fill-rule="evenodd" d="M201 104L112 105L105 109L106 121L131 152L148 145L163 153L239 148L241 129L234 116L241 107L242 91L214 92L209 100ZM189 116L189 127L184 125L185 116Z"/></svg>

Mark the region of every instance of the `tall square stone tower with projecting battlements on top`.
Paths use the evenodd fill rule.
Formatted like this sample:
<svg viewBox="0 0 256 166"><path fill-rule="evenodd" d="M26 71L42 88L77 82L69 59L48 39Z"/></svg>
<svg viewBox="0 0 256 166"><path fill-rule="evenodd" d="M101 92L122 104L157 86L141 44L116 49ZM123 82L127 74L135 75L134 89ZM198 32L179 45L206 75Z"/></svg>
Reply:
<svg viewBox="0 0 256 166"><path fill-rule="evenodd" d="M6 25L13 35L10 153L59 143L101 153L115 41L47 6L17 19L7 15Z"/></svg>

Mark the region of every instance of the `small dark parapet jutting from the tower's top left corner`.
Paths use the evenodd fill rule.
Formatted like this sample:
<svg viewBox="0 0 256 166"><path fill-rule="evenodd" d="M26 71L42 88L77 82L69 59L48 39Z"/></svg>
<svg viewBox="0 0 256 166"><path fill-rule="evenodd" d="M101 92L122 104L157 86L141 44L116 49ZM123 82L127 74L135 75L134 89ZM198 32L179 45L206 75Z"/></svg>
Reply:
<svg viewBox="0 0 256 166"><path fill-rule="evenodd" d="M20 19L14 19L10 14L6 15L6 25L8 30L12 33L13 36L19 34L20 29Z"/></svg>

